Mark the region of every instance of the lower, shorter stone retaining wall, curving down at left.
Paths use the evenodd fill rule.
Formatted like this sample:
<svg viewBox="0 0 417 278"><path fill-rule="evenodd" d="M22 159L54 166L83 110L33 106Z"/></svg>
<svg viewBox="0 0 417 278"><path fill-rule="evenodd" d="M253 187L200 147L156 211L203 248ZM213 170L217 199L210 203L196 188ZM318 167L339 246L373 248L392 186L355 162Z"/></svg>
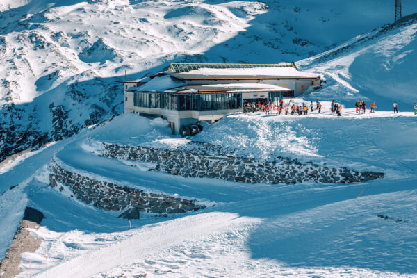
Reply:
<svg viewBox="0 0 417 278"><path fill-rule="evenodd" d="M52 187L56 187L57 181L60 181L72 190L76 199L104 211L126 209L119 216L122 218L139 218L140 211L166 215L167 213L186 213L205 208L205 206L196 205L192 200L147 193L128 186L122 187L115 183L90 179L81 174L67 171L54 161L49 165L49 168L51 170L49 181Z"/></svg>

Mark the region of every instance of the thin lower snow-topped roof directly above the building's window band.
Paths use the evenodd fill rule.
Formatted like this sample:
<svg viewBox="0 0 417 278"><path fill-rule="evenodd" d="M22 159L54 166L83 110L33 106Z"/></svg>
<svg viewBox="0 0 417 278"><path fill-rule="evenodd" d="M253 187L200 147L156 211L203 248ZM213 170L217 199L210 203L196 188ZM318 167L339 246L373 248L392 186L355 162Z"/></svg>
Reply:
<svg viewBox="0 0 417 278"><path fill-rule="evenodd" d="M175 94L215 94L215 93L238 93L238 92L287 92L290 89L270 84L259 83L234 83L234 84L214 84L214 85L183 85L166 90L139 90L131 88L129 90L136 92L171 92Z"/></svg>

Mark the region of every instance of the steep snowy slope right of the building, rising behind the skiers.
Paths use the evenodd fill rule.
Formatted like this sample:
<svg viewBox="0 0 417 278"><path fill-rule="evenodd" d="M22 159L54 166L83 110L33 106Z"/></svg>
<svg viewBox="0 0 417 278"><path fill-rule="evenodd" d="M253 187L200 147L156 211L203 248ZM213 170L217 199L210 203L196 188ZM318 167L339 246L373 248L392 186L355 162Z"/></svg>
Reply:
<svg viewBox="0 0 417 278"><path fill-rule="evenodd" d="M359 35L340 47L297 63L323 74L325 88L309 99L326 98L354 106L359 98L381 109L398 101L411 111L417 101L417 14L400 24Z"/></svg>

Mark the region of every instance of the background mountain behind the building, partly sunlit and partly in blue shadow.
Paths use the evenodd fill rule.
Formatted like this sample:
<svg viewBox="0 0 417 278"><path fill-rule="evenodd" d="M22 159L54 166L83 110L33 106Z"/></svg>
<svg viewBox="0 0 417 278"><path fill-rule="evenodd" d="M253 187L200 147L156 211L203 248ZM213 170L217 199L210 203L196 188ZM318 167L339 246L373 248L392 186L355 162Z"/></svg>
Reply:
<svg viewBox="0 0 417 278"><path fill-rule="evenodd" d="M22 0L0 10L3 160L121 113L125 72L300 60L390 22L393 3Z"/></svg>

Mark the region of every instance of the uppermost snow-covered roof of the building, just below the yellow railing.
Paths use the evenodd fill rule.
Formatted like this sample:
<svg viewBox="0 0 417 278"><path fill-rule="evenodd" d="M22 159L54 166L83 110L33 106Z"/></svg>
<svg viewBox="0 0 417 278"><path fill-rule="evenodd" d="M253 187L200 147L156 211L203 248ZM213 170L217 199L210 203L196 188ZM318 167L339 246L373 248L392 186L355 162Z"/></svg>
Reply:
<svg viewBox="0 0 417 278"><path fill-rule="evenodd" d="M294 67L200 68L189 72L167 72L181 80L208 79L318 79L318 74L300 72Z"/></svg>

